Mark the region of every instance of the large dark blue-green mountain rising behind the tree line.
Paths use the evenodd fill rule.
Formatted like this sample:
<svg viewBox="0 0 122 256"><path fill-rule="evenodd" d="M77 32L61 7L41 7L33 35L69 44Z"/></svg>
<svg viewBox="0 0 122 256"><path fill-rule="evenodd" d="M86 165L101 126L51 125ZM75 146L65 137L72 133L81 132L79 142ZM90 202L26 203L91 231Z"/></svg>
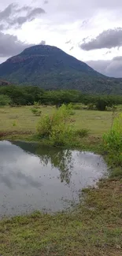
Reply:
<svg viewBox="0 0 122 256"><path fill-rule="evenodd" d="M55 46L31 46L0 65L0 79L45 89L122 94L122 79L109 78Z"/></svg>

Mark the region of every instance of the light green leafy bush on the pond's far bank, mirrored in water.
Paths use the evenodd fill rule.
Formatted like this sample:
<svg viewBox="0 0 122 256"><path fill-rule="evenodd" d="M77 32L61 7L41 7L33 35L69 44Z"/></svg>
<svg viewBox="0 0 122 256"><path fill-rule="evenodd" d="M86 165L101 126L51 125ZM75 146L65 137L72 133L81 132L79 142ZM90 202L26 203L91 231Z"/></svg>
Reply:
<svg viewBox="0 0 122 256"><path fill-rule="evenodd" d="M71 106L62 105L52 116L39 120L37 133L40 137L48 137L54 146L63 146L71 140L72 125L70 120Z"/></svg>

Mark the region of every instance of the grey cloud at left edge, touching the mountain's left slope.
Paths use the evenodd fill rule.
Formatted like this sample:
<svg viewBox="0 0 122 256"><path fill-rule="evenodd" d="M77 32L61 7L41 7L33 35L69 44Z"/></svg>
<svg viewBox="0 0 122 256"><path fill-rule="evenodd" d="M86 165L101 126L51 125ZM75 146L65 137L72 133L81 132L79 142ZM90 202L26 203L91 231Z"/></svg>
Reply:
<svg viewBox="0 0 122 256"><path fill-rule="evenodd" d="M19 54L32 44L23 43L17 39L17 35L9 35L0 32L0 58Z"/></svg>

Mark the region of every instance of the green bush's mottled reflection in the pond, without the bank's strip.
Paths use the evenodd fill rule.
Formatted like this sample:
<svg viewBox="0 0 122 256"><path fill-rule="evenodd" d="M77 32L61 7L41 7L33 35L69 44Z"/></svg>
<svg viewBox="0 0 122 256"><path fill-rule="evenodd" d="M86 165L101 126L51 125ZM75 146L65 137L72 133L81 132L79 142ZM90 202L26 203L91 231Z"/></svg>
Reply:
<svg viewBox="0 0 122 256"><path fill-rule="evenodd" d="M43 154L42 154L43 153ZM71 150L54 150L50 149L46 152L40 152L40 148L36 150L36 154L39 155L41 162L47 165L49 162L52 167L59 169L61 182L66 182L66 184L70 184L71 180L71 169L72 169L72 151Z"/></svg>

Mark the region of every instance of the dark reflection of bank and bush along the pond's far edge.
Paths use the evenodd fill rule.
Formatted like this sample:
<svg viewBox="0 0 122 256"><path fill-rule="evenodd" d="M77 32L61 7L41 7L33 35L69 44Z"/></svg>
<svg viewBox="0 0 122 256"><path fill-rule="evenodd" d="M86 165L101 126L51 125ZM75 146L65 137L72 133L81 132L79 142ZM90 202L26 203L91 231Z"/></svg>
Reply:
<svg viewBox="0 0 122 256"><path fill-rule="evenodd" d="M53 147L41 147L38 143L14 142L16 146L28 153L38 155L44 165L51 163L52 167L59 169L61 182L70 184L71 169L73 167L72 151Z"/></svg>

